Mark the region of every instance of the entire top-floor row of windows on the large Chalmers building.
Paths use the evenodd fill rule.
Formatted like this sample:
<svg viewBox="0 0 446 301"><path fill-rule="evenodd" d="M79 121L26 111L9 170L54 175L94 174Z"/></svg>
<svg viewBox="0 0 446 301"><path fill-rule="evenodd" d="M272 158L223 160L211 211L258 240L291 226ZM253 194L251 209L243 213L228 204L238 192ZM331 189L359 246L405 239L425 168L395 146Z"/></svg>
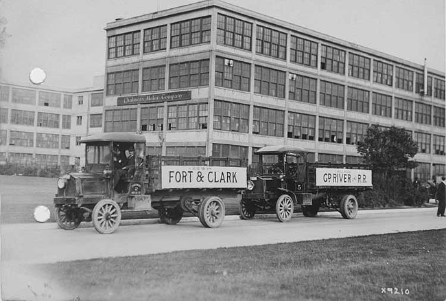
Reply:
<svg viewBox="0 0 446 301"><path fill-rule="evenodd" d="M170 34L170 47L187 47L201 43L208 43L211 35L211 16L190 19L172 23ZM139 54L140 32L130 32L108 37L108 58L119 58ZM253 23L218 14L217 43L239 49L251 50L253 38ZM143 30L143 52L165 50L167 45L167 25L152 27ZM272 56L281 60L286 59L287 34L270 27L257 25L256 27L256 53ZM337 47L321 44L320 69L345 74L346 51ZM317 67L318 43L305 38L291 35L290 60L293 63ZM371 58L349 52L348 76L370 80ZM421 92L424 86L423 74L416 73L416 93ZM406 91L413 91L414 71L402 67L373 60L373 82L392 86ZM427 78L427 95L432 96L432 76ZM445 80L436 78L434 97L445 99ZM430 82L430 83L429 83Z"/></svg>

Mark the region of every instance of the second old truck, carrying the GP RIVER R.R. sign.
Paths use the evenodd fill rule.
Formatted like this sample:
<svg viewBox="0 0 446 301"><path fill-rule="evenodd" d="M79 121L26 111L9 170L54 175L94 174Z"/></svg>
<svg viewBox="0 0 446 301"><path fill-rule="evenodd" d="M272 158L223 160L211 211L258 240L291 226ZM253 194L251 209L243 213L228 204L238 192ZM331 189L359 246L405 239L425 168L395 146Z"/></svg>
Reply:
<svg viewBox="0 0 446 301"><path fill-rule="evenodd" d="M248 178L239 202L242 219L275 212L279 221L289 221L296 205L304 216L316 216L325 207L354 219L357 194L373 188L365 164L311 163L307 150L298 146L265 146L256 154L258 170Z"/></svg>

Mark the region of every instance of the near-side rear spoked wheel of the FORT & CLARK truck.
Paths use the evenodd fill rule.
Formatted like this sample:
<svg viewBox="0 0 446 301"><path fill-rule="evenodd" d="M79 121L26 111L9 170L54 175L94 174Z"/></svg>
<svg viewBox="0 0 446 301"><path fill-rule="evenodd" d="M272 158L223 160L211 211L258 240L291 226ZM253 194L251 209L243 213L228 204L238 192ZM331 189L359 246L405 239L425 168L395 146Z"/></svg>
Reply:
<svg viewBox="0 0 446 301"><path fill-rule="evenodd" d="M219 227L224 220L224 203L219 197L207 197L200 204L198 219L204 227Z"/></svg>

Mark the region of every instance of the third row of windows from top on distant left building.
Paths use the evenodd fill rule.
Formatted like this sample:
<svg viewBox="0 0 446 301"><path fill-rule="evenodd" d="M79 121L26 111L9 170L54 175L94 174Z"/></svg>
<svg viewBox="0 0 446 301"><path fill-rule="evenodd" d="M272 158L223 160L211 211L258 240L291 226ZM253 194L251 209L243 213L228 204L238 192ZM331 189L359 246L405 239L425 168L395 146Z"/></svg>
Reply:
<svg viewBox="0 0 446 301"><path fill-rule="evenodd" d="M34 139L33 132L10 131L10 139L8 142L7 131L0 130L0 145L69 149L70 135L36 133L36 137Z"/></svg>

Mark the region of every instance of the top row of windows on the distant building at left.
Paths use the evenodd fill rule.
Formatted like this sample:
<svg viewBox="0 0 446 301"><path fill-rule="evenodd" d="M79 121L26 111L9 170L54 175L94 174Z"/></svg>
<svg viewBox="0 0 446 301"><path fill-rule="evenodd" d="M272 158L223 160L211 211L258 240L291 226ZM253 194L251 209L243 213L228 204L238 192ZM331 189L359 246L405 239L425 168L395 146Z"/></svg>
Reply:
<svg viewBox="0 0 446 301"><path fill-rule="evenodd" d="M8 102L10 89L7 86L0 86L0 101ZM32 89L21 89L13 87L11 90L11 101L16 104L29 104L42 107L54 107L62 109L73 108L73 96L61 93L36 91ZM84 103L84 96L78 96L78 104ZM104 105L104 93L91 93L91 107L101 107Z"/></svg>

